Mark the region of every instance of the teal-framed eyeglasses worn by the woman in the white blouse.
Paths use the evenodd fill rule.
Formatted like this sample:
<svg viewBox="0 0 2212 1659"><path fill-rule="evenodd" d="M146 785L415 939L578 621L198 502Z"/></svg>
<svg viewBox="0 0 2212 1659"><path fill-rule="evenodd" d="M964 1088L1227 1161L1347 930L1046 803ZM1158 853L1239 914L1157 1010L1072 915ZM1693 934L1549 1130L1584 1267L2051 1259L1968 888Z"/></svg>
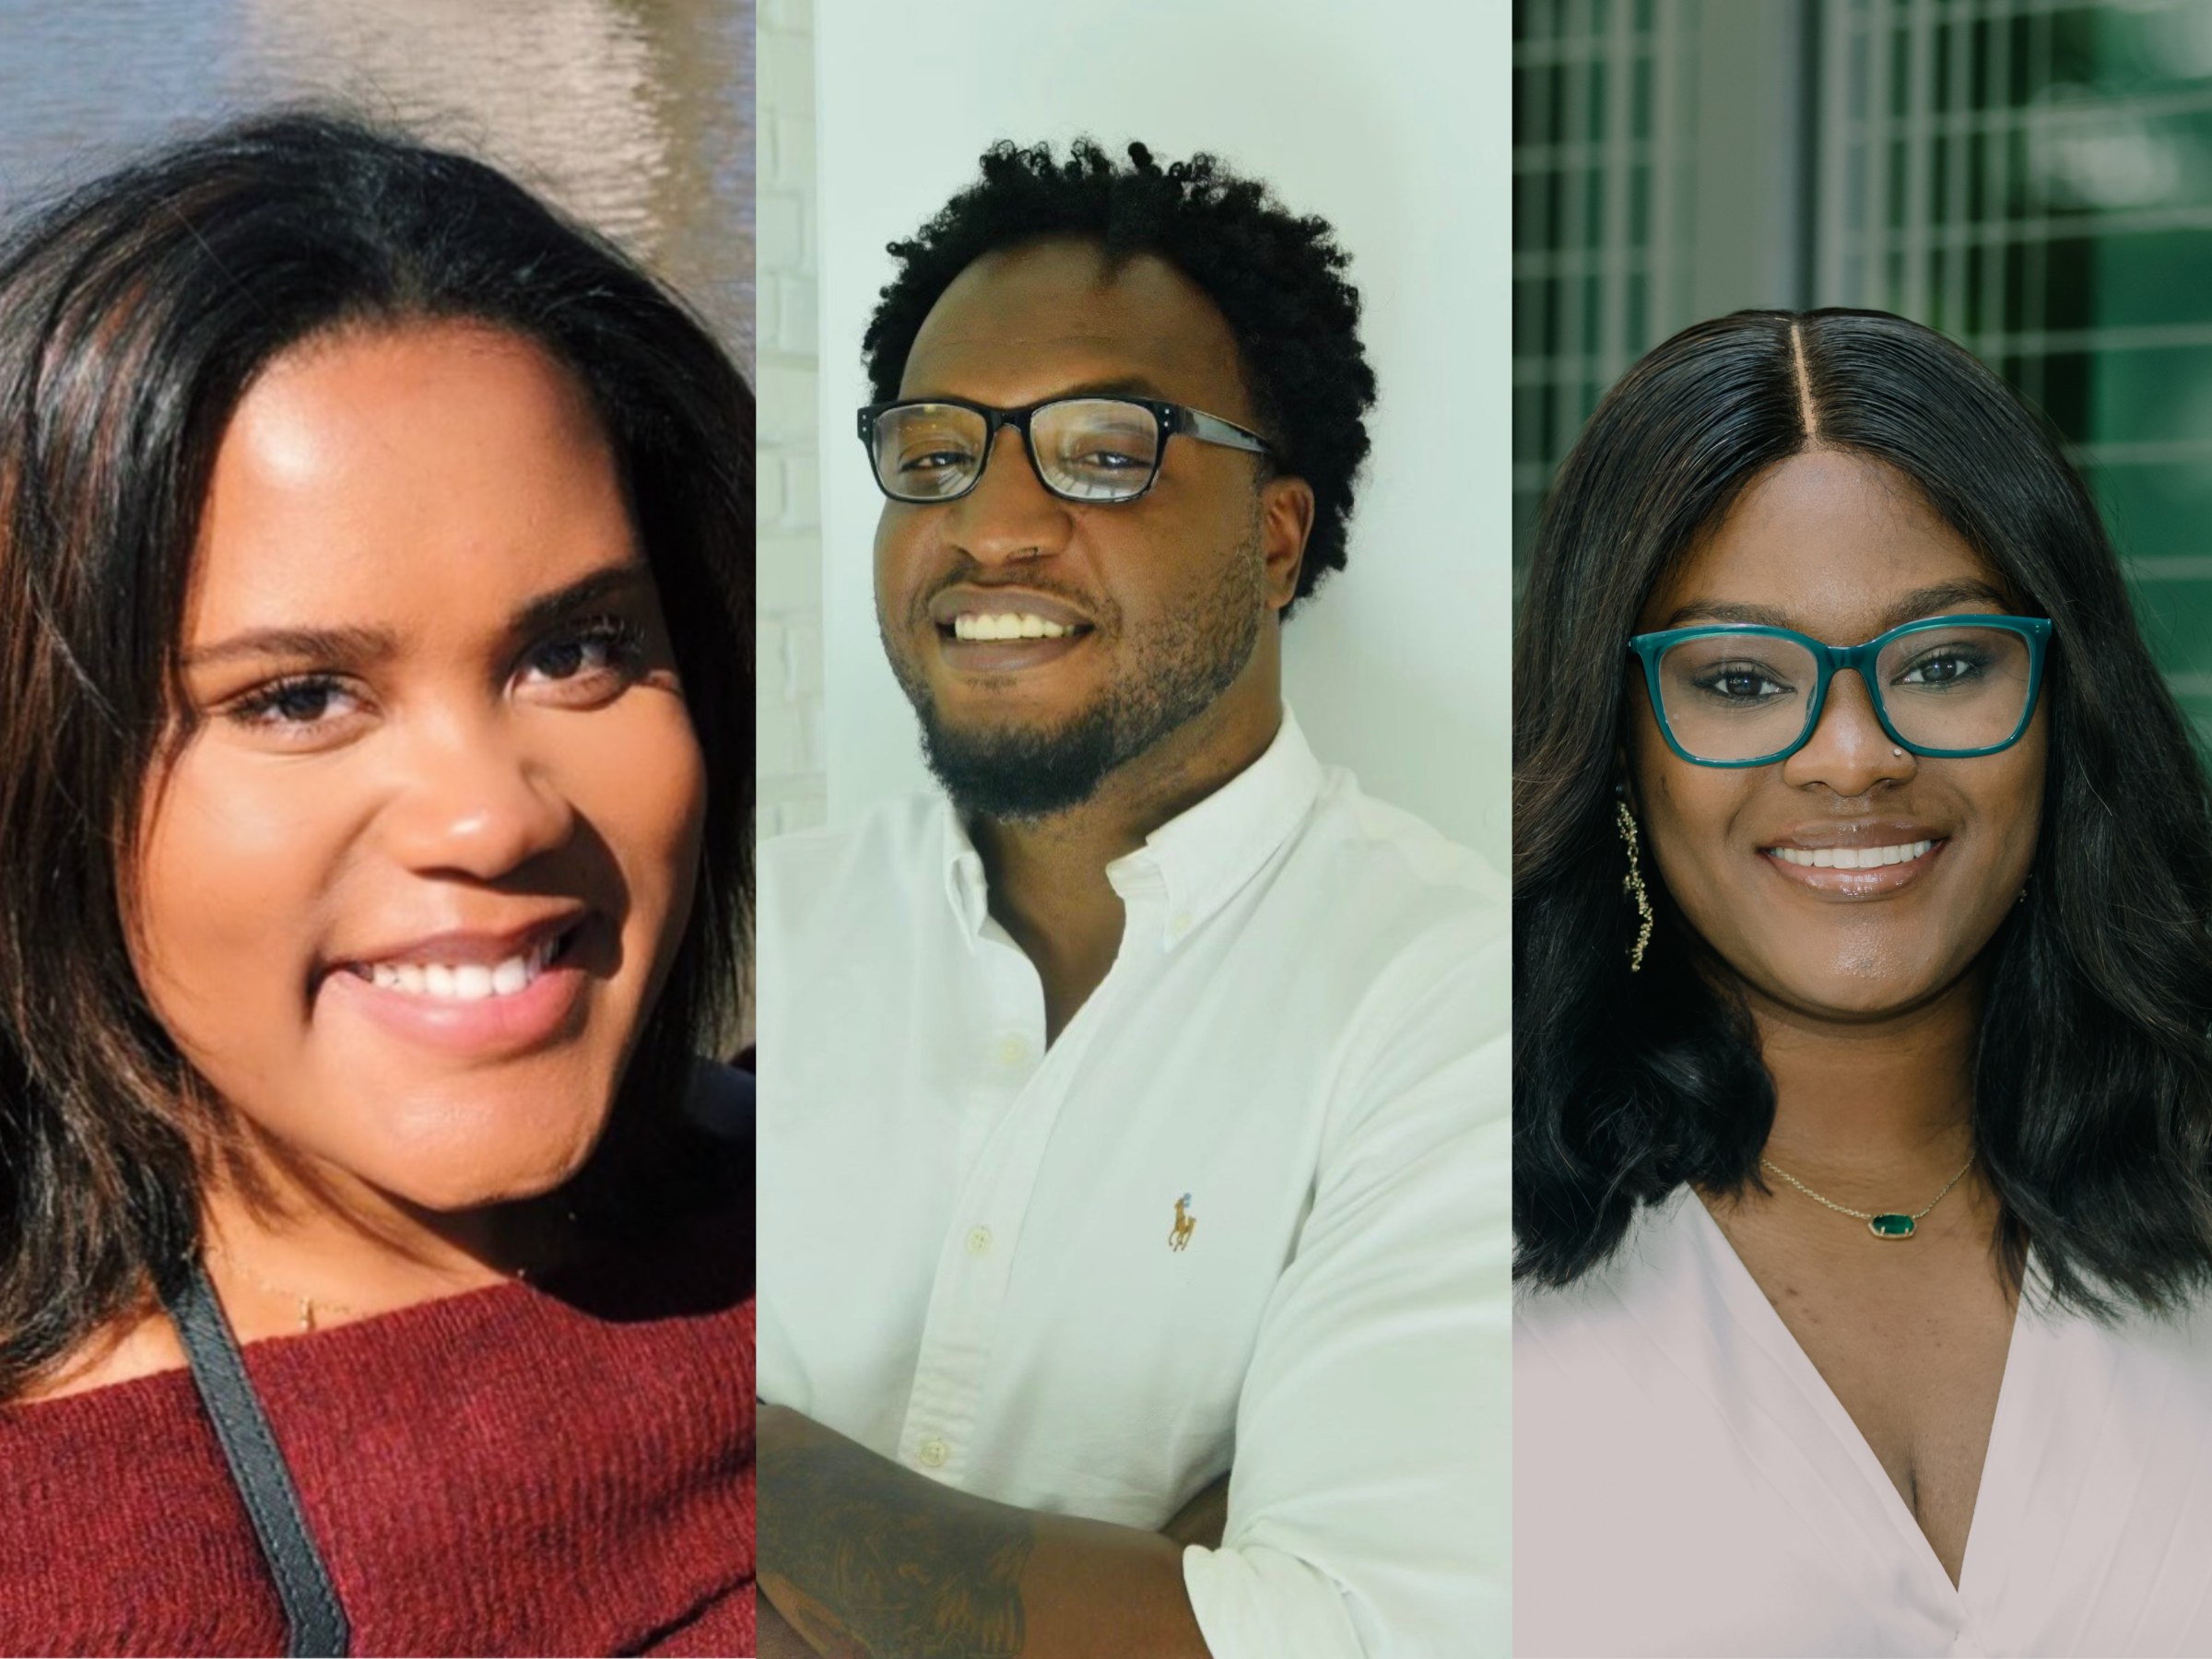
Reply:
<svg viewBox="0 0 2212 1659"><path fill-rule="evenodd" d="M1964 615L1907 622L1863 646L1714 624L1639 633L1628 650L1670 750L1697 765L1772 765L1805 748L1845 668L1898 748L1938 759L2008 750L2035 717L2048 644L2044 617Z"/></svg>

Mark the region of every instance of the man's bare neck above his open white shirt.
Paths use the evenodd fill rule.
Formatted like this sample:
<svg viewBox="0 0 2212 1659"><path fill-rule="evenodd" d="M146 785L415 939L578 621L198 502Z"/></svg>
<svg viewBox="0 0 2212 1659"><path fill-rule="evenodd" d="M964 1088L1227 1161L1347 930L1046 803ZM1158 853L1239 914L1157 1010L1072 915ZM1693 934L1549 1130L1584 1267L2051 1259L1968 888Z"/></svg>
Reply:
<svg viewBox="0 0 2212 1659"><path fill-rule="evenodd" d="M991 916L1044 980L1046 1037L1057 1037L1121 947L1121 898L1106 867L1252 765L1283 723L1265 695L1221 695L1203 714L1108 774L1088 801L1048 818L971 825Z"/></svg>

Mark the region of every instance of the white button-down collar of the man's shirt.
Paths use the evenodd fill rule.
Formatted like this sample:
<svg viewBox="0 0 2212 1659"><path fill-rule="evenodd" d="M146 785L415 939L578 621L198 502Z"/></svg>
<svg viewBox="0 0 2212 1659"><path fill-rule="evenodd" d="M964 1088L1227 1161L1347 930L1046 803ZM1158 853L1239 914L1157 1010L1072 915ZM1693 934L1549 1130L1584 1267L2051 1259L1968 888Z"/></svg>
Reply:
<svg viewBox="0 0 2212 1659"><path fill-rule="evenodd" d="M1285 706L1274 741L1252 765L1146 836L1144 847L1106 865L1106 880L1130 907L1159 902L1161 949L1172 951L1274 858L1316 794L1321 761ZM942 830L945 898L962 933L975 940L991 914L991 889L982 854L949 799Z"/></svg>

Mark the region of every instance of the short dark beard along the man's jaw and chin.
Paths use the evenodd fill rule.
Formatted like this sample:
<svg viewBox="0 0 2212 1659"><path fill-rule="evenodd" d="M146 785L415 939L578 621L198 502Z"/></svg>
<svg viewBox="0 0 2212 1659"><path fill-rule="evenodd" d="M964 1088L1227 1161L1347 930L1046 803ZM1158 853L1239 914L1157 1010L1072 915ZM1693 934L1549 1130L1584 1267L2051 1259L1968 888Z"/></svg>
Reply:
<svg viewBox="0 0 2212 1659"><path fill-rule="evenodd" d="M885 633L891 672L922 723L922 759L953 805L1015 823L1068 812L1212 708L1259 646L1267 586L1256 511L1245 542L1214 562L1212 586L1135 635L1117 611L1084 606L1099 617L1099 644L1119 646L1119 661L1091 706L1057 726L945 719L920 664Z"/></svg>

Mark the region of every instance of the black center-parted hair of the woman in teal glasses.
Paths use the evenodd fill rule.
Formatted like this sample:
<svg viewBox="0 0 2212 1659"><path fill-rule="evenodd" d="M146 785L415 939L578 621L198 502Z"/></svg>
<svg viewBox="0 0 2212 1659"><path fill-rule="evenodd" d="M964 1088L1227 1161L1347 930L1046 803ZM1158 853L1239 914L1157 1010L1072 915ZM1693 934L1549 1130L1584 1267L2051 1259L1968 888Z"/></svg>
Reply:
<svg viewBox="0 0 2212 1659"><path fill-rule="evenodd" d="M1725 975L1644 860L1644 973L1615 783L1626 644L1655 584L1761 471L1816 442L1911 478L2053 622L2044 830L1989 945L1973 1135L2053 1294L2110 1314L2212 1279L2212 812L2097 511L2044 422L1882 312L1736 312L1637 363L1537 531L1513 657L1515 1276L1606 1261L1639 1203L1754 1183L1774 1082ZM1650 971L1657 967L1659 971Z"/></svg>

